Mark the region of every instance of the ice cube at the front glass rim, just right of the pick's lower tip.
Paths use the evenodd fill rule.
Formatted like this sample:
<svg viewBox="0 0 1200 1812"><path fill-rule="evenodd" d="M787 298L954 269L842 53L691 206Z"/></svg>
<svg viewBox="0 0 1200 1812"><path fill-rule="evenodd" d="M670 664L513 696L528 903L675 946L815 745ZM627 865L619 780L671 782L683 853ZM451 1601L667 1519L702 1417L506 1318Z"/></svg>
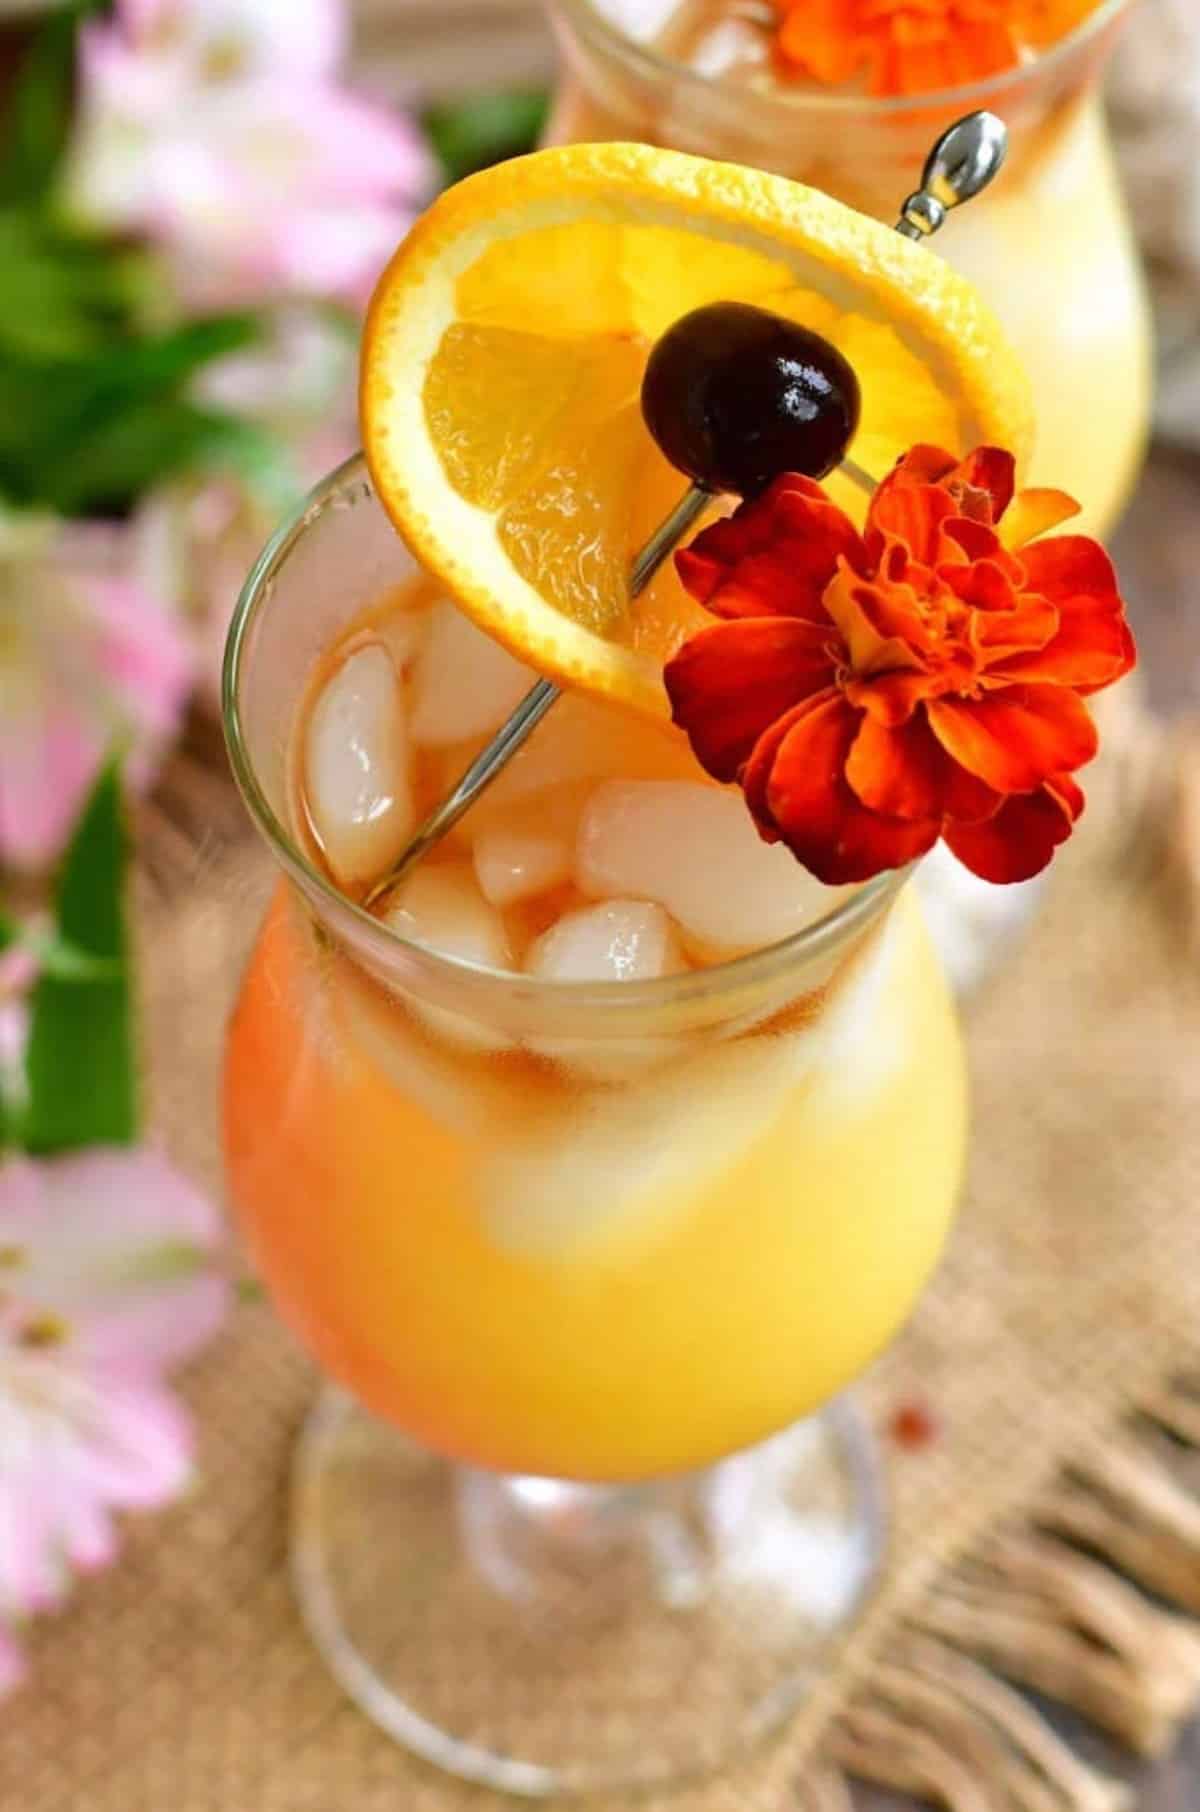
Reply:
<svg viewBox="0 0 1200 1812"><path fill-rule="evenodd" d="M419 868L388 906L384 922L413 944L488 969L511 969L513 953L500 913L488 904L466 864ZM466 984L469 988L469 984ZM466 991L464 988L464 991ZM509 1038L486 1020L406 997L433 1033L471 1051L502 1051Z"/></svg>

